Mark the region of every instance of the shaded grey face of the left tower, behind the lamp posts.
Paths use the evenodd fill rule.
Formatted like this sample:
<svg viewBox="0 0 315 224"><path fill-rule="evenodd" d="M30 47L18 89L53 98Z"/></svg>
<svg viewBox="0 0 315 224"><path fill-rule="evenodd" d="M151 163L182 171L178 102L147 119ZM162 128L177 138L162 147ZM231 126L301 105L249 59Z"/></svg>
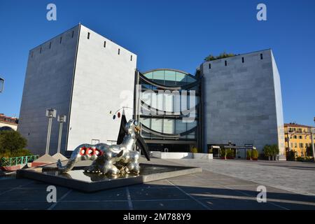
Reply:
<svg viewBox="0 0 315 224"><path fill-rule="evenodd" d="M29 51L18 131L33 153L45 153L48 127L45 110L53 108L57 114L69 116L77 39L78 26ZM66 146L67 123L63 127L62 149ZM59 123L55 118L50 155L57 152L58 134Z"/></svg>

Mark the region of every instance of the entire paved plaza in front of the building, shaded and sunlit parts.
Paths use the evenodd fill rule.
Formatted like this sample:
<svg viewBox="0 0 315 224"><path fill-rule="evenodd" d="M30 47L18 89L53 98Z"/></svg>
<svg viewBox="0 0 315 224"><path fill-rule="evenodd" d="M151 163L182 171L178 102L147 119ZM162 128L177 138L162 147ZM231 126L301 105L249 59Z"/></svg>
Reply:
<svg viewBox="0 0 315 224"><path fill-rule="evenodd" d="M192 159L150 163L203 171L96 193L56 186L55 203L46 201L48 183L0 179L0 209L315 209L315 164ZM266 203L256 199L261 185L267 188Z"/></svg>

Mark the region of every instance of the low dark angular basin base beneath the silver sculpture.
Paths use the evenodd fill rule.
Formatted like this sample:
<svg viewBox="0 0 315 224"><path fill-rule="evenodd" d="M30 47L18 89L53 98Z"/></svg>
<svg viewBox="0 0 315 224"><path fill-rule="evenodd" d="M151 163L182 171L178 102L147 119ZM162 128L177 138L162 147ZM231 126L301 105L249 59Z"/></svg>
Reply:
<svg viewBox="0 0 315 224"><path fill-rule="evenodd" d="M85 172L85 168L90 163L91 161L78 162L71 171L66 173L58 171L57 164L46 165L35 169L20 169L17 176L18 178L34 179L84 192L94 192L202 172L200 167L141 163L139 174L130 173L112 176L95 172Z"/></svg>

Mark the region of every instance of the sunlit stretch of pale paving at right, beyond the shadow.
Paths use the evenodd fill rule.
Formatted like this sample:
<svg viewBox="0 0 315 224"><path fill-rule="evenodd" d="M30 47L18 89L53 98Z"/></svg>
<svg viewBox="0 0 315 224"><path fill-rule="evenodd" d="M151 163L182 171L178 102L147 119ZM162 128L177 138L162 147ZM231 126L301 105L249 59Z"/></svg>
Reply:
<svg viewBox="0 0 315 224"><path fill-rule="evenodd" d="M209 172L315 196L315 163L248 160L176 160Z"/></svg>

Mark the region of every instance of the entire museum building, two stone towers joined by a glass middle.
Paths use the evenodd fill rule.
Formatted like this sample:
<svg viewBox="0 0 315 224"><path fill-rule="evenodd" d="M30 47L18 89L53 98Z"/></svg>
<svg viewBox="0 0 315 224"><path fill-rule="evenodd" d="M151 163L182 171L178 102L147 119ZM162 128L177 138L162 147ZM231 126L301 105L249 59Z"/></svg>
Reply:
<svg viewBox="0 0 315 224"><path fill-rule="evenodd" d="M122 77L122 78L117 78ZM18 131L45 153L46 109L66 116L62 153L87 143L115 144L120 118L135 118L151 151L278 144L285 158L279 72L272 50L178 69L140 71L137 55L83 25L29 51ZM50 154L57 151L52 121Z"/></svg>

